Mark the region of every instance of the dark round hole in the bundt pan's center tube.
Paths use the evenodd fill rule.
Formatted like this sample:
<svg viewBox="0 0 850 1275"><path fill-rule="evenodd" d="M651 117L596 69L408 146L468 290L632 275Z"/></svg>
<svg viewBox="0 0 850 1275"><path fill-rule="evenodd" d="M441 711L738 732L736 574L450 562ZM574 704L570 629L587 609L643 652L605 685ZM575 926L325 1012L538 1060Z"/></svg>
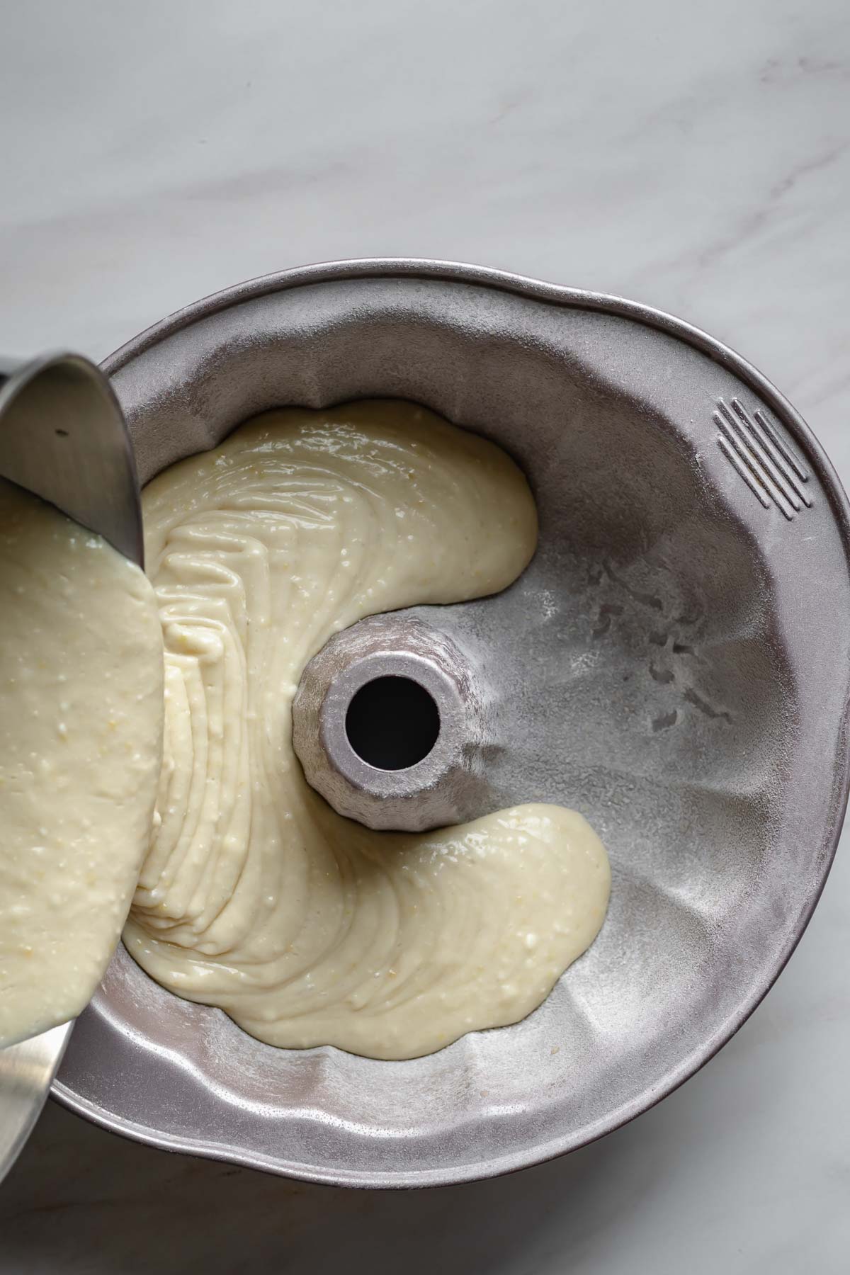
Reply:
<svg viewBox="0 0 850 1275"><path fill-rule="evenodd" d="M348 705L345 734L377 770L407 770L427 757L440 734L433 697L409 677L376 677Z"/></svg>

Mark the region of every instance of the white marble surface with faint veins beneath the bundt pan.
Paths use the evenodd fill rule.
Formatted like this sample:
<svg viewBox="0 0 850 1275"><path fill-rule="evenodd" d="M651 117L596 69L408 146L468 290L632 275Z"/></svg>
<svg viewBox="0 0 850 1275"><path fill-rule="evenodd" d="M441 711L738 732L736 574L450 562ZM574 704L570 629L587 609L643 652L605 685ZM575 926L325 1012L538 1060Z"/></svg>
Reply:
<svg viewBox="0 0 850 1275"><path fill-rule="evenodd" d="M33 0L3 64L5 353L102 357L285 265L455 258L707 328L850 482L846 0ZM512 1178L293 1186L51 1105L0 1190L0 1272L845 1271L849 898L850 844L714 1062Z"/></svg>

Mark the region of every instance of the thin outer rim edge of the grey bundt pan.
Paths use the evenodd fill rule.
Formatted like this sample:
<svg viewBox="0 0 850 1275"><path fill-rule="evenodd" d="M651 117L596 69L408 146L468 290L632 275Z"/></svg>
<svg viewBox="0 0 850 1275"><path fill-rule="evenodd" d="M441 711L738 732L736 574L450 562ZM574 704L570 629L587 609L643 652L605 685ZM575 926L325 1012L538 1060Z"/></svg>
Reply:
<svg viewBox="0 0 850 1275"><path fill-rule="evenodd" d="M540 301L556 307L594 310L603 314L618 315L632 319L646 326L668 333L688 344L696 347L711 360L730 370L744 384L754 390L782 422L791 437L799 444L814 469L832 514L836 519L839 534L845 551L845 558L850 566L850 502L844 491L841 481L828 459L819 441L805 423L800 413L781 394L776 386L752 363L738 354L737 351L725 346L709 333L652 306L630 301L624 297L608 295L604 292L591 292L582 288L571 288L554 283L545 283L521 274L512 274L488 266L470 265L460 261L431 260L427 258L356 258L349 260L320 261L312 265L294 266L287 270L278 270L270 274L257 275L243 283L233 284L209 296L201 297L191 305L176 310L159 323L147 328L139 335L126 342L101 363L102 371L107 376L120 372L127 363L140 354L157 346L159 342L219 311L231 306L252 301L259 297L284 292L292 288L305 287L324 282L344 282L368 278L404 278L404 279L436 279L449 283L473 284L477 287L493 288L501 292L514 293L529 300ZM61 1076L54 1081L51 1096L62 1105L87 1119L101 1125L113 1133L131 1137L135 1141L157 1146L162 1150L182 1151L205 1159L226 1160L232 1164L247 1168L261 1168L266 1172L277 1173L282 1177L296 1178L305 1182L313 1182L329 1186L347 1187L372 1187L372 1188L410 1188L426 1186L450 1186L461 1182L477 1182L486 1178L498 1177L520 1169L530 1168L535 1164L545 1163L568 1151L580 1150L582 1146L594 1142L596 1139L622 1128L637 1116L650 1111L659 1102L674 1093L686 1080L696 1075L714 1056L731 1039L747 1021L749 1015L758 1007L767 996L779 975L785 969L789 959L794 954L817 903L823 892L826 880L832 867L844 816L850 792L850 697L845 701L844 715L840 729L840 742L842 748L833 768L832 798L830 802L830 820L825 829L825 844L828 847L823 857L819 880L809 892L798 914L793 929L789 932L785 947L779 952L776 961L770 970L763 987L746 996L738 1005L734 1014L709 1037L697 1049L679 1061L664 1077L664 1081L655 1088L645 1090L631 1103L624 1103L605 1117L596 1121L584 1131L584 1136L575 1141L568 1136L559 1136L549 1141L538 1142L519 1151L510 1151L474 1163L451 1165L440 1169L424 1169L413 1172L382 1172L370 1170L349 1172L335 1168L333 1172L324 1167L311 1167L296 1162L287 1162L284 1158L270 1158L264 1153L251 1154L242 1148L213 1140L192 1139L173 1133L163 1133L157 1130L143 1127L135 1122L121 1121L101 1108L87 1102L68 1089Z"/></svg>

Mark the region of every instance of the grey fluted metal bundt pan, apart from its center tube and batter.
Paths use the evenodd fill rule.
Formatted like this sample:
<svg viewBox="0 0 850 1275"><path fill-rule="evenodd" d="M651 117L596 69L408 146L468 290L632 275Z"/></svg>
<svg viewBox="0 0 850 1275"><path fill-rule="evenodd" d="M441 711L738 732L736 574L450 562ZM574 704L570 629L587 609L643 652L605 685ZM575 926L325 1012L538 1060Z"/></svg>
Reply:
<svg viewBox="0 0 850 1275"><path fill-rule="evenodd" d="M531 565L412 627L472 652L493 691L475 812L576 807L613 887L539 1010L412 1062L273 1049L120 949L55 1095L157 1146L424 1186L570 1151L669 1094L782 969L846 803L847 504L798 413L668 315L415 260L241 284L106 370L143 482L256 412L373 395L517 460L540 514Z"/></svg>

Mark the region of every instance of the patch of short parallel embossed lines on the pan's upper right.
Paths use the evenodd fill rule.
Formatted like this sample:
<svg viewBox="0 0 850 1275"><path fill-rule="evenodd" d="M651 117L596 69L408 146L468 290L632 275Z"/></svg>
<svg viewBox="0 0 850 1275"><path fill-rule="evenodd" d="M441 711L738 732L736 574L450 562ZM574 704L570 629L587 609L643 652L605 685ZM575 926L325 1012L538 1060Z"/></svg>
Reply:
<svg viewBox="0 0 850 1275"><path fill-rule="evenodd" d="M731 407L717 399L714 421L717 446L765 509L776 505L790 523L812 507L808 470L761 408L751 414L738 398Z"/></svg>

